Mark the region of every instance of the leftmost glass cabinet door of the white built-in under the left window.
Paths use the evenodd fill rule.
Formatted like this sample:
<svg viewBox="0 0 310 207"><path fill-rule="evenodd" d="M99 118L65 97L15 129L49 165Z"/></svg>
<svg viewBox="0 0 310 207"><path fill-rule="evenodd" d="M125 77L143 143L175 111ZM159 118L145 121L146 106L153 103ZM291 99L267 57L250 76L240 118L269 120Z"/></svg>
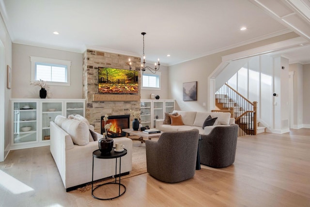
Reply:
<svg viewBox="0 0 310 207"><path fill-rule="evenodd" d="M13 102L12 144L37 142L37 102Z"/></svg>

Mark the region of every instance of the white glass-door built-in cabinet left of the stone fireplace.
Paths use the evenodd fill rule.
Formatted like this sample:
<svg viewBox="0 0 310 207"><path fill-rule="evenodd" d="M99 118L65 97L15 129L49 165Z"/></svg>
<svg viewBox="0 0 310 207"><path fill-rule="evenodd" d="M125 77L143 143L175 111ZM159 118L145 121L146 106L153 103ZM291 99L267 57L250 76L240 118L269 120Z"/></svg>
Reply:
<svg viewBox="0 0 310 207"><path fill-rule="evenodd" d="M11 149L49 145L49 122L57 115L85 117L85 99L11 99Z"/></svg>

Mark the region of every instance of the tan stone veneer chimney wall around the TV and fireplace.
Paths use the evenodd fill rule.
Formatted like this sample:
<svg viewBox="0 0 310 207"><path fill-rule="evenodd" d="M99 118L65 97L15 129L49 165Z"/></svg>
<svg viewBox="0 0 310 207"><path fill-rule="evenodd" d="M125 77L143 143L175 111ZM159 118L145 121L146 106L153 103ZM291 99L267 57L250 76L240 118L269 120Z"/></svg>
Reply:
<svg viewBox="0 0 310 207"><path fill-rule="evenodd" d="M140 81L139 81L139 101L112 101L114 99L105 99L104 101L93 101L93 95L98 93L98 67L111 67L119 69L129 69L128 59L132 61L133 68L139 68L140 58L131 57L121 54L102 52L97 50L87 49L83 54L83 98L86 99L86 119L94 126L96 132L100 133L101 116L108 115L123 115L129 114L129 110L140 111ZM141 74L139 72L138 80ZM101 96L101 95L99 95ZM111 95L110 95L111 96ZM122 95L115 95L122 96ZM133 118L131 117L130 123ZM130 124L131 125L131 124ZM131 126L130 126L131 127Z"/></svg>

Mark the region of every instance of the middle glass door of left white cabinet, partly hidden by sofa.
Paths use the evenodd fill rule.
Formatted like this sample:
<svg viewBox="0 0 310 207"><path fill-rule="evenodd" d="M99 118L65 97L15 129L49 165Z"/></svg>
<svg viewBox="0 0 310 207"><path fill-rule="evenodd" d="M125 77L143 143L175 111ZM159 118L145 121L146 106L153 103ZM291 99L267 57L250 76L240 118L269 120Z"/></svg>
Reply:
<svg viewBox="0 0 310 207"><path fill-rule="evenodd" d="M59 102L42 102L42 117L41 117L41 134L40 142L47 142L50 139L49 123L54 121L57 115L62 115L62 101Z"/></svg>

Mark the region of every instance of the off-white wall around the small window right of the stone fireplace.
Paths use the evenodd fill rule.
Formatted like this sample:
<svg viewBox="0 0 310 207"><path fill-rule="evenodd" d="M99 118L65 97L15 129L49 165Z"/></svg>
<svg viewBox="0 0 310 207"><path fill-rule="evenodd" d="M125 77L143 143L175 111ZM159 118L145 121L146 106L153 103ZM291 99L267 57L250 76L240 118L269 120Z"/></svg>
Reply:
<svg viewBox="0 0 310 207"><path fill-rule="evenodd" d="M146 64L149 67L154 67L154 64ZM169 70L167 66L160 65L159 71L160 77L160 90L146 90L141 89L141 99L150 99L150 94L155 94L160 97L160 99L169 99Z"/></svg>

